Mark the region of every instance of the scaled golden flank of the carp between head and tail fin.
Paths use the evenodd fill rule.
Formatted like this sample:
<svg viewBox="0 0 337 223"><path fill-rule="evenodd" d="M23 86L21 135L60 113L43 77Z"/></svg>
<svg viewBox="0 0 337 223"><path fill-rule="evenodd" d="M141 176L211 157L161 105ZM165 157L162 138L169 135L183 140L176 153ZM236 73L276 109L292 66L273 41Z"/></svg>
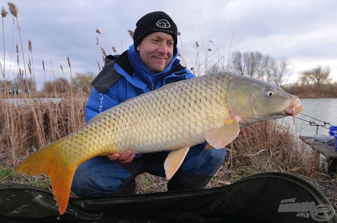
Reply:
<svg viewBox="0 0 337 223"><path fill-rule="evenodd" d="M226 92L233 75L215 73L172 83L100 114L62 141L63 160L132 150L149 153L200 144L229 118Z"/></svg>

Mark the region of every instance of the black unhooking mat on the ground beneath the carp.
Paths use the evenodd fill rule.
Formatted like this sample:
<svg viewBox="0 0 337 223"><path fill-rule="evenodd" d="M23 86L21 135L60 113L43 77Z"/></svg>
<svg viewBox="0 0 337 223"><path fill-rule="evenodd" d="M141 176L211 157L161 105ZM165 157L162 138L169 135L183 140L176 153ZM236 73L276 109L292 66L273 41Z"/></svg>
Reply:
<svg viewBox="0 0 337 223"><path fill-rule="evenodd" d="M70 198L62 216L55 203L49 191L0 184L0 222L337 222L316 187L279 172L203 190Z"/></svg>

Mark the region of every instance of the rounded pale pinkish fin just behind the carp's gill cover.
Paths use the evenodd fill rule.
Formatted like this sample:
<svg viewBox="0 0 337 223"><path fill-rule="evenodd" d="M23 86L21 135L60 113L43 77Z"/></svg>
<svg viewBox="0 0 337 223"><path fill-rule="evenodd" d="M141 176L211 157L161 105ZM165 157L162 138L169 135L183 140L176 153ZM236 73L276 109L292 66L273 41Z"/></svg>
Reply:
<svg viewBox="0 0 337 223"><path fill-rule="evenodd" d="M233 141L239 132L239 122L231 119L222 127L208 130L205 138L212 147L221 149Z"/></svg>

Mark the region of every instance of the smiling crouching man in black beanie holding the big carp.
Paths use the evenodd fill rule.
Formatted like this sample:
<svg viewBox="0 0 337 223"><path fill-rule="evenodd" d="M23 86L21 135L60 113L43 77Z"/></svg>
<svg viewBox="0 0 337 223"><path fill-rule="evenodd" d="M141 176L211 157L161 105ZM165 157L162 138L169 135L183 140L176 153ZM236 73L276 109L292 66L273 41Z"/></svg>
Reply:
<svg viewBox="0 0 337 223"><path fill-rule="evenodd" d="M86 121L125 100L161 86L194 77L179 64L178 30L165 12L144 15L137 23L133 44L121 55L109 55L91 83L93 90L85 106ZM206 143L191 147L179 170L167 184L168 191L204 188L224 162L224 149L205 150ZM135 194L135 177L144 172L165 177L168 152L94 157L81 164L71 190L81 197Z"/></svg>

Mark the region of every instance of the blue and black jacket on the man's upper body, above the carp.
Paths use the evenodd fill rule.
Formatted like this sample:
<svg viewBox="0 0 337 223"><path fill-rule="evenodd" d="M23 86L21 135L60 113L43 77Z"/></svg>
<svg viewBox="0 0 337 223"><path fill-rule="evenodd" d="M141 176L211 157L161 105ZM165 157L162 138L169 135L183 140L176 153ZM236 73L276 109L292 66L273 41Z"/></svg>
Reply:
<svg viewBox="0 0 337 223"><path fill-rule="evenodd" d="M121 55L106 56L103 69L91 82L94 88L85 106L86 122L98 113L130 98L158 89L171 82L195 77L179 62L176 59L168 73L162 74L154 83L146 84L146 80L144 81L146 77L140 77L133 70L127 51Z"/></svg>

